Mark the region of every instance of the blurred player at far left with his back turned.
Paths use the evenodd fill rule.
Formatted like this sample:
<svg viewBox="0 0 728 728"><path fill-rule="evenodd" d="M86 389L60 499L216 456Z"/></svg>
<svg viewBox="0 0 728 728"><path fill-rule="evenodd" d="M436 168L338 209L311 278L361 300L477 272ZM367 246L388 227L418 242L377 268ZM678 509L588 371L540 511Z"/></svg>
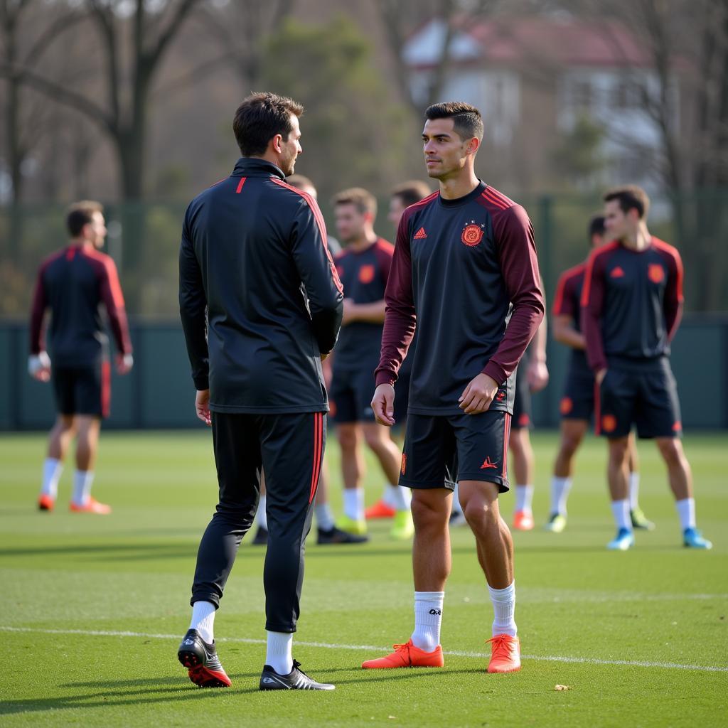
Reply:
<svg viewBox="0 0 728 728"><path fill-rule="evenodd" d="M58 410L50 431L38 507L53 510L63 459L75 435L71 512L107 515L111 507L91 496L101 420L108 417L111 406L108 336L99 304L105 306L114 334L119 374L132 368L132 344L116 266L99 252L106 238L102 205L90 200L76 202L68 210L66 226L69 245L41 265L31 312L28 371L39 381L52 380ZM43 348L42 334L47 310L52 314L50 356Z"/></svg>

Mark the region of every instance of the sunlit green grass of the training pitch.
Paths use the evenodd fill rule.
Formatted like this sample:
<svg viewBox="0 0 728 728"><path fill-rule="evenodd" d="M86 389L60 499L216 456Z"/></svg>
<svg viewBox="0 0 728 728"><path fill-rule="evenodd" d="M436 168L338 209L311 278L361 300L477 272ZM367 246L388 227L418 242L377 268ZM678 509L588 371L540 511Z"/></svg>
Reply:
<svg viewBox="0 0 728 728"><path fill-rule="evenodd" d="M534 445L540 526L555 437L534 435ZM641 502L657 530L638 533L628 553L607 553L614 529L604 443L586 443L567 530L514 536L524 659L521 673L511 676L485 673L483 640L492 611L467 529L453 533L443 649L459 654L446 657L443 670L358 668L383 654L363 646L387 648L411 631L408 543L389 541L381 522L363 547L312 542L294 654L337 689L283 695L257 689L265 655L263 550L245 542L215 624L233 687L195 688L175 657L189 620L197 543L215 505L208 433L105 432L94 494L114 506L108 517L68 513L71 467L61 480L58 510L37 512L44 438L4 435L0 725L726 725L727 445L713 435L689 435L686 442L699 525L715 543L710 553L681 548L650 443L640 445ZM327 459L339 510L333 443ZM371 502L382 478L371 459L368 464ZM512 507L513 496L502 496L504 513ZM613 664L622 660L628 664ZM571 690L556 692L556 684Z"/></svg>

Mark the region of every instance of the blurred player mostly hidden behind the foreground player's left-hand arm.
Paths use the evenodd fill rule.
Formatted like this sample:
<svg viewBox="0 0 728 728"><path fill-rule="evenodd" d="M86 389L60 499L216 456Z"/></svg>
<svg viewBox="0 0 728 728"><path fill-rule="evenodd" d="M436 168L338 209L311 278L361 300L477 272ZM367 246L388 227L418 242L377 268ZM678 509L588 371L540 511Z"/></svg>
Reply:
<svg viewBox="0 0 728 728"><path fill-rule="evenodd" d="M415 202L419 202L428 194L432 194L432 190L427 183L420 180L411 180L403 182L392 189L389 193L389 213L387 219L397 231L404 211ZM405 358L400 367L397 384L395 384L395 426L392 428L392 436L399 440L404 437L405 424L407 422L407 407L409 403L409 384L412 372L412 360L414 358L414 349L416 347L417 333L410 345L411 356ZM400 486L388 485L384 488L384 494L381 498L368 507L365 512L365 518L369 521L373 518L394 518L397 513L397 502L399 502Z"/></svg>

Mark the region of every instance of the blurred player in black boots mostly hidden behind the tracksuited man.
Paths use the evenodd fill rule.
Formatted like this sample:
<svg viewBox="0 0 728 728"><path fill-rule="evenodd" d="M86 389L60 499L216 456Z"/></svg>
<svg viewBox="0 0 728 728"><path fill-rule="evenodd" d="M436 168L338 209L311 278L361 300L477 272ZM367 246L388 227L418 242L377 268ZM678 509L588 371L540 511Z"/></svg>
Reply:
<svg viewBox="0 0 728 728"><path fill-rule="evenodd" d="M286 183L296 189L300 189L306 194L310 194L313 199L318 199L318 191L314 187L314 183L305 175L290 175L285 179ZM335 237L327 235L328 249L332 256L338 256L341 253L341 245ZM323 368L323 376L326 388L331 387L331 357L327 357L321 364ZM358 544L368 541L368 537L359 536L357 534L349 534L342 531L336 526L331 512L331 505L328 500L328 465L324 460L321 464L321 477L319 478L319 486L316 491L316 499L314 500L314 516L316 518L317 538L316 542L320 545L325 544ZM258 502L258 510L256 511L256 535L253 537L254 546L264 546L268 543L268 515L266 513L266 478L261 473L261 499Z"/></svg>

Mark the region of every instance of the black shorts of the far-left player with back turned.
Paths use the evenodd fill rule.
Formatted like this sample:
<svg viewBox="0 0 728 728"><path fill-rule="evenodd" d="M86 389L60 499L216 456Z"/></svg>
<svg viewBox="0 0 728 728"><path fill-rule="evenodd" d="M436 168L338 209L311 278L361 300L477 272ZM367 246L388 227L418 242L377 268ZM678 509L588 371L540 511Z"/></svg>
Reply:
<svg viewBox="0 0 728 728"><path fill-rule="evenodd" d="M51 366L58 412L108 417L111 411L111 364L101 360L82 367Z"/></svg>

